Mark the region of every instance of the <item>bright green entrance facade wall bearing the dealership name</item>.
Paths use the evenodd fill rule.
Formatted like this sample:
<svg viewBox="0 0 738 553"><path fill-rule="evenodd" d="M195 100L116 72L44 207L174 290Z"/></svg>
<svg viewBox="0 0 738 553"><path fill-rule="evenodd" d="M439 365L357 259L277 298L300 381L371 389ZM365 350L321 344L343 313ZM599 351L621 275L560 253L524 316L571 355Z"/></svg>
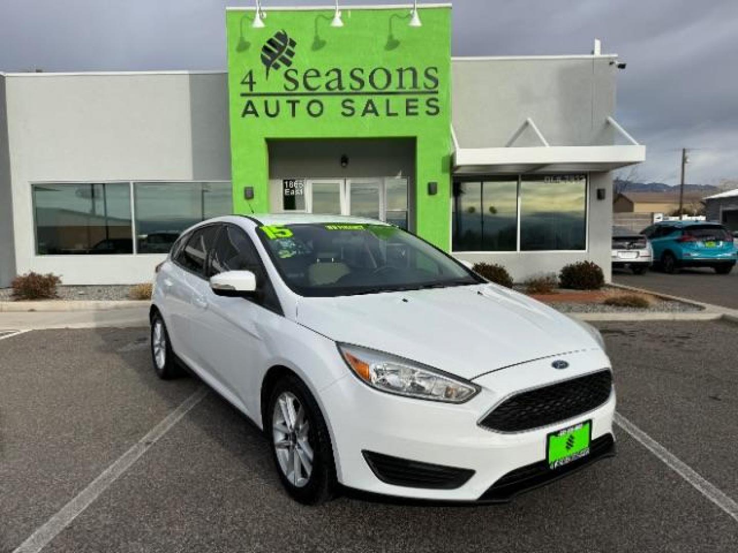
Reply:
<svg viewBox="0 0 738 553"><path fill-rule="evenodd" d="M439 198L417 196L416 215L449 218L451 8L421 9L422 27L410 27L410 9L227 12L228 88L234 206L269 210L268 143L282 139L416 139L415 183L438 183ZM295 152L299 156L299 152ZM250 203L243 187L254 189ZM293 190L293 188L290 188ZM299 184L294 192L299 201ZM443 204L443 205L441 205ZM435 236L446 247L448 226Z"/></svg>

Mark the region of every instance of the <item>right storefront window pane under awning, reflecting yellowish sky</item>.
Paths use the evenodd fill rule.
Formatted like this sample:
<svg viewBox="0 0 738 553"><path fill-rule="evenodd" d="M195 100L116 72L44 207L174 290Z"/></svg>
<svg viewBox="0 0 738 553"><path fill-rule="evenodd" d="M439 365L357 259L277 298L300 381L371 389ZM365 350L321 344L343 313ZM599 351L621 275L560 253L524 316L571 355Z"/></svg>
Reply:
<svg viewBox="0 0 738 553"><path fill-rule="evenodd" d="M520 249L584 250L585 175L524 176L520 183Z"/></svg>

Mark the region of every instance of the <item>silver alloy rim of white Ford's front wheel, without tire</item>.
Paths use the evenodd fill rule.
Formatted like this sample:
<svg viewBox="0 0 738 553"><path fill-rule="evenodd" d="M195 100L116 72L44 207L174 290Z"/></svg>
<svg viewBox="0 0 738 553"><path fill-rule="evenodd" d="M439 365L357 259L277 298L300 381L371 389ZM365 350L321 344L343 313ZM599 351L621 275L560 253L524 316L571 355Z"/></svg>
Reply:
<svg viewBox="0 0 738 553"><path fill-rule="evenodd" d="M277 462L294 487L304 487L313 472L310 421L300 400L290 392L277 397L272 415L272 437Z"/></svg>

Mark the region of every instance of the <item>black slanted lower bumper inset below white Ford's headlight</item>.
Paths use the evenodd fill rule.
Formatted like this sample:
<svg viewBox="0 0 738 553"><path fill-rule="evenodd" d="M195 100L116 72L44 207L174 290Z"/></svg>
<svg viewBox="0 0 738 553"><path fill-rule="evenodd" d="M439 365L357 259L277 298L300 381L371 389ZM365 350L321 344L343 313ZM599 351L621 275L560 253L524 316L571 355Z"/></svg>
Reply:
<svg viewBox="0 0 738 553"><path fill-rule="evenodd" d="M373 451L362 453L374 475L384 483L394 486L455 490L474 476L474 470L467 468L432 465Z"/></svg>

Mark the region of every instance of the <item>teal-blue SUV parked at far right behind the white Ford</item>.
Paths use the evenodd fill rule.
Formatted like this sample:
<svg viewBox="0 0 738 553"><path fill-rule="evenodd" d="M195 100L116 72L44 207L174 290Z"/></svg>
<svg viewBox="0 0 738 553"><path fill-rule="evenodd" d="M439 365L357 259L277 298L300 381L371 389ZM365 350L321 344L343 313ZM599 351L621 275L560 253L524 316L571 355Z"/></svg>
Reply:
<svg viewBox="0 0 738 553"><path fill-rule="evenodd" d="M733 235L720 223L663 221L644 229L653 248L653 260L667 273L682 267L712 267L728 274L736 264Z"/></svg>

